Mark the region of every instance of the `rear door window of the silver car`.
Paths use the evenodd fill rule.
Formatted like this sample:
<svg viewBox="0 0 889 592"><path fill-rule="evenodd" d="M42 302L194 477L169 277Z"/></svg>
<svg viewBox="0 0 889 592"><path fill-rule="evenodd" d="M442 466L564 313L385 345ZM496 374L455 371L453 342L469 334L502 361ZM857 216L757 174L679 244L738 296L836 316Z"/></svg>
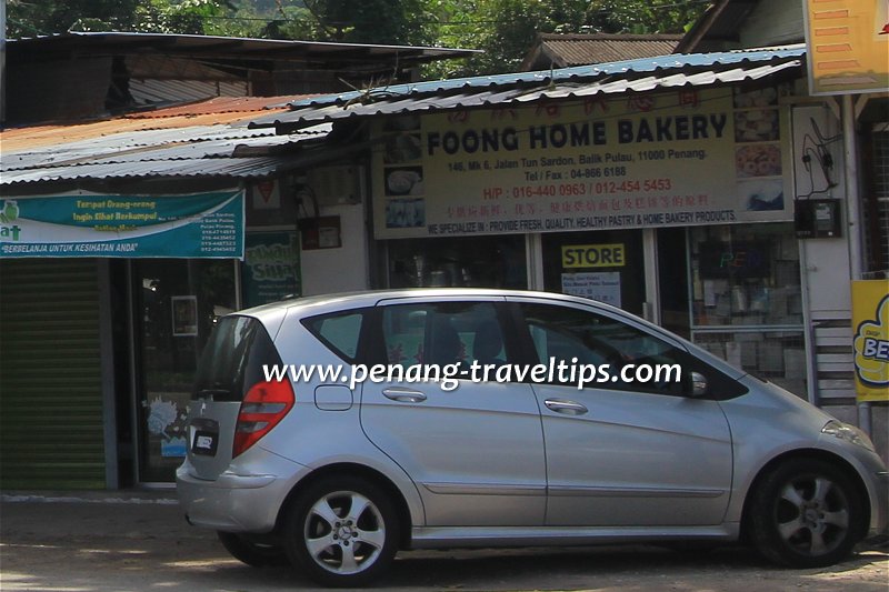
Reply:
<svg viewBox="0 0 889 592"><path fill-rule="evenodd" d="M383 308L382 337L390 364L507 363L492 302L393 304Z"/></svg>

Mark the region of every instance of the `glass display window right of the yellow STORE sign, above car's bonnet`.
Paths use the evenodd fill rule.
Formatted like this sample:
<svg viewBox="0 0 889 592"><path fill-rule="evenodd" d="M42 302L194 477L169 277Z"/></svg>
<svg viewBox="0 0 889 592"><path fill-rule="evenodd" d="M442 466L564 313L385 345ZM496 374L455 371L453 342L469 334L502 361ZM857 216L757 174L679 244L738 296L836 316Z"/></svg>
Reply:
<svg viewBox="0 0 889 592"><path fill-rule="evenodd" d="M691 339L806 397L799 248L791 224L689 230Z"/></svg>

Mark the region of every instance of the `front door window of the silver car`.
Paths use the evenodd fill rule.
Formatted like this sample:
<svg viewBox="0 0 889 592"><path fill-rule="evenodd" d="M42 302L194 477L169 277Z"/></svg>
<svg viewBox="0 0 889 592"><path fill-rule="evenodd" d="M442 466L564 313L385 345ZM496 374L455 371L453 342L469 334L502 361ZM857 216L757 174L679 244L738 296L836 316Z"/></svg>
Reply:
<svg viewBox="0 0 889 592"><path fill-rule="evenodd" d="M610 375L618 375L615 382L606 382L602 388L631 390L661 394L685 394L686 385L676 378L672 381L623 381L620 372L640 365L678 364L690 357L655 335L626 324L616 319L591 311L551 304L522 303L520 305L525 324L537 353L537 362L608 365ZM683 369L685 371L685 369ZM566 375L569 375L566 373ZM557 383L562 383L557 380ZM570 381L563 382L572 384ZM596 387L591 384L590 387Z"/></svg>

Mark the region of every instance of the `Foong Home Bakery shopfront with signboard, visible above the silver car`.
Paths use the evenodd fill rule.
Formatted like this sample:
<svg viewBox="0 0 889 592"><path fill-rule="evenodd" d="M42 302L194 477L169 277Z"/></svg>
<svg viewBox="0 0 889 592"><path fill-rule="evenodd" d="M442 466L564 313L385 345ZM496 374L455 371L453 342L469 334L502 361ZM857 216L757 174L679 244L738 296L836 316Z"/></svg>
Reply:
<svg viewBox="0 0 889 592"><path fill-rule="evenodd" d="M793 88L683 87L379 122L386 280L593 298L808 398Z"/></svg>

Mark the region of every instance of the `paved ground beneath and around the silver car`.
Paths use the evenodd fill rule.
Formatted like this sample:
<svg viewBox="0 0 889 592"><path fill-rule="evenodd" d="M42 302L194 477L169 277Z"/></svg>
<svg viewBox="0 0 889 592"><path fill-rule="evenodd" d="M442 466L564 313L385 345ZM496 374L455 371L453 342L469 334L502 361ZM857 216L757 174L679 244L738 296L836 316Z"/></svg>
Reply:
<svg viewBox="0 0 889 592"><path fill-rule="evenodd" d="M171 492L10 494L0 499L0 589L47 592L312 589L284 568L229 558L184 523ZM889 549L863 545L841 565L790 571L745 549L649 548L414 551L381 590L889 590Z"/></svg>

